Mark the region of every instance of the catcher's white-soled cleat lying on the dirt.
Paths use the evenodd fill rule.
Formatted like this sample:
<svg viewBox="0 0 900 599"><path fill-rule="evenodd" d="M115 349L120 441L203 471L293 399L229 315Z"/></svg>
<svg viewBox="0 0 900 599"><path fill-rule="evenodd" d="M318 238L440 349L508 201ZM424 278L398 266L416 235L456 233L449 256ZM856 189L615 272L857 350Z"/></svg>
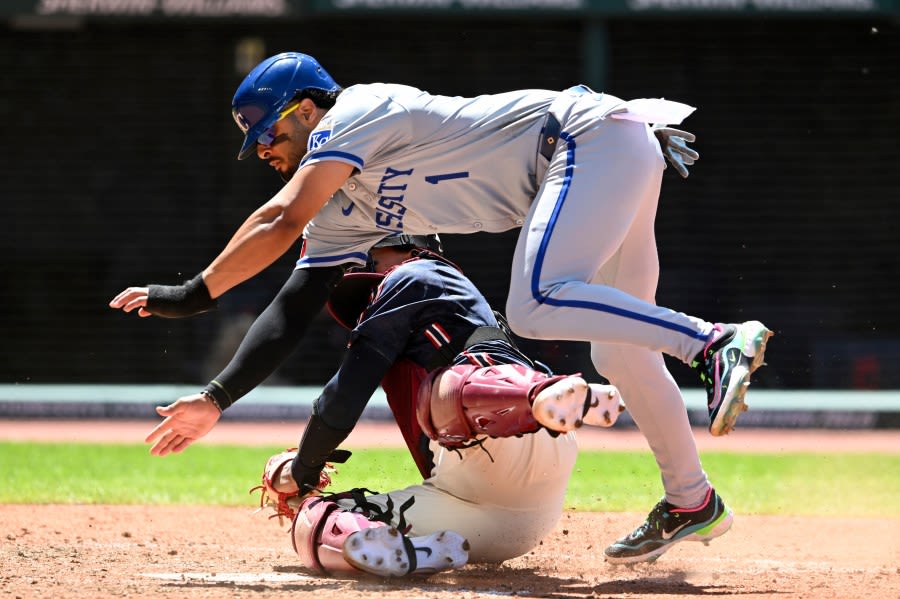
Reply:
<svg viewBox="0 0 900 599"><path fill-rule="evenodd" d="M349 564L376 576L433 574L466 565L469 541L450 530L407 537L392 526L382 526L347 537L343 553Z"/></svg>

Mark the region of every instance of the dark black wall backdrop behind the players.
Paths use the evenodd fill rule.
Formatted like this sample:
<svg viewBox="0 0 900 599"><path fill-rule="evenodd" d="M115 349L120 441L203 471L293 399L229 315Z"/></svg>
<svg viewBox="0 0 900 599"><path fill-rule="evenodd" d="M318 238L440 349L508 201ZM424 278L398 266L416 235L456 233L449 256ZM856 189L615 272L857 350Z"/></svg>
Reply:
<svg viewBox="0 0 900 599"><path fill-rule="evenodd" d="M262 163L234 160L229 103L248 61L301 50L344 85L471 95L587 82L698 106L685 126L702 158L686 181L665 175L658 301L772 326L758 387L900 387L893 4L608 14L602 3L377 4L272 3L290 9L281 18L166 14L172 2L131 15L84 8L109 6L99 0L5 4L19 10L0 13L0 382L192 385L217 372L298 249L209 315L138 319L106 304L129 284L193 276L278 189ZM446 238L498 308L513 242ZM344 341L323 314L271 382L324 382ZM534 349L557 369L590 370L581 345ZM673 374L695 384L686 367Z"/></svg>

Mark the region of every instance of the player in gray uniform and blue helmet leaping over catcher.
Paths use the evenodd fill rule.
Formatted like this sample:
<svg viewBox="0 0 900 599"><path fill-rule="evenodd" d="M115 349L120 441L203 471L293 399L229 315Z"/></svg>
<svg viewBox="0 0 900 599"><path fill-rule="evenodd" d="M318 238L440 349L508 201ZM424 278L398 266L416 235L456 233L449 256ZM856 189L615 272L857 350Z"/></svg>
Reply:
<svg viewBox="0 0 900 599"><path fill-rule="evenodd" d="M110 305L141 316L201 312L301 234L302 271L362 264L375 231L521 228L509 323L525 337L590 342L597 370L621 390L656 457L665 497L606 558L654 560L679 541L721 535L732 521L700 464L662 354L698 371L710 432L724 435L746 409L751 374L772 335L758 321L718 324L655 303L654 219L665 161L650 124L678 125L693 110L585 86L471 98L384 83L343 89L308 55L272 56L238 87L232 112L245 134L239 158L255 153L284 187L192 280L128 288ZM696 154L673 139L664 150L682 172ZM305 304L310 310L327 297L328 283L319 285L325 290Z"/></svg>

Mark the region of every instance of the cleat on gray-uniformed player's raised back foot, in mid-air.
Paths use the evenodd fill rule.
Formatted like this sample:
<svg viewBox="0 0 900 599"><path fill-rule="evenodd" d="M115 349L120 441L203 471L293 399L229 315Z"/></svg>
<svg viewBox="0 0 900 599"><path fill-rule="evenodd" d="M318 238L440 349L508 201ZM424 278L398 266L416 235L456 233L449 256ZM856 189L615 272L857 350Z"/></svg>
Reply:
<svg viewBox="0 0 900 599"><path fill-rule="evenodd" d="M750 375L764 364L766 343L773 333L756 320L717 324L716 331L691 366L706 386L709 432L720 437L730 433L738 416L747 411L744 396Z"/></svg>

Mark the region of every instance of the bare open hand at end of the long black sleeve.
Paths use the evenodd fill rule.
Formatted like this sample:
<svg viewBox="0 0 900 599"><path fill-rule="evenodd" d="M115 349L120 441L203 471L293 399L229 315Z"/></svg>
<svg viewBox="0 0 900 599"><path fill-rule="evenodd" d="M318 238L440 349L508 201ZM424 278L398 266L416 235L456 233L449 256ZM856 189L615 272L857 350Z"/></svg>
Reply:
<svg viewBox="0 0 900 599"><path fill-rule="evenodd" d="M146 443L153 443L152 455L164 456L180 453L212 430L221 412L202 393L188 395L167 406L159 406L156 413L165 417L147 435Z"/></svg>

